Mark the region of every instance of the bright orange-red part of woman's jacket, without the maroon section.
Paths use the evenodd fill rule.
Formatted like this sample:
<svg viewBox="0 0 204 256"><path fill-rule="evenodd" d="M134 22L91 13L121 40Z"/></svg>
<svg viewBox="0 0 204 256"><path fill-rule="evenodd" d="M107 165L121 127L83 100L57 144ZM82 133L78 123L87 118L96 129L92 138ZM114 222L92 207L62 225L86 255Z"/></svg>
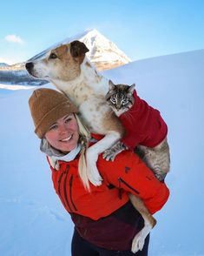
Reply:
<svg viewBox="0 0 204 256"><path fill-rule="evenodd" d="M78 175L78 158L59 161L60 170L52 167L52 180L57 195L68 212L76 212L90 219L100 219L128 202L128 192L143 199L151 213L161 209L168 199L168 187L155 178L153 172L135 155L125 151L114 162L99 156L97 167L102 175L100 186L90 184L87 192ZM117 189L109 190L114 185ZM119 196L119 193L120 196Z"/></svg>

